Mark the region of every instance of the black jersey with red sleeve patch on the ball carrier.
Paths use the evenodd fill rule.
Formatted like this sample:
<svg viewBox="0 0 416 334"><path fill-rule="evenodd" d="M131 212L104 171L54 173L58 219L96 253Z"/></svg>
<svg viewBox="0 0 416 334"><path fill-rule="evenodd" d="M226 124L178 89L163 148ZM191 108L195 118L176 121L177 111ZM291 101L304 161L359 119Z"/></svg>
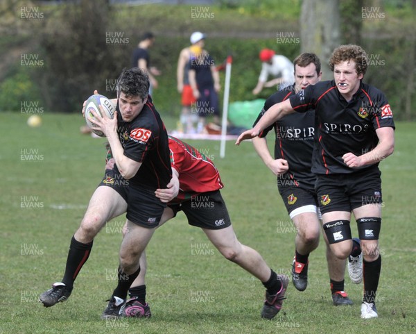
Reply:
<svg viewBox="0 0 416 334"><path fill-rule="evenodd" d="M117 105L117 133L124 155L141 162L141 167L129 182L152 189L166 188L171 181L168 133L153 106L150 95L143 109L132 122L124 122ZM115 167L116 168L116 167Z"/></svg>

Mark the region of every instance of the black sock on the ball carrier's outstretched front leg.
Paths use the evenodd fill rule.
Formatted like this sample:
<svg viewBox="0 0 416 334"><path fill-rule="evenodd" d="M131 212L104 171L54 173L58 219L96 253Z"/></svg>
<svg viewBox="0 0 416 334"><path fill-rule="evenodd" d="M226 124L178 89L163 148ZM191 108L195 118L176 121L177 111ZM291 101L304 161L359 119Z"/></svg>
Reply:
<svg viewBox="0 0 416 334"><path fill-rule="evenodd" d="M65 267L64 278L62 283L67 287L72 288L73 282L78 276L84 263L87 262L89 253L91 253L92 242L89 244L83 244L82 242L76 241L75 237L72 236L71 244L69 245L67 267Z"/></svg>

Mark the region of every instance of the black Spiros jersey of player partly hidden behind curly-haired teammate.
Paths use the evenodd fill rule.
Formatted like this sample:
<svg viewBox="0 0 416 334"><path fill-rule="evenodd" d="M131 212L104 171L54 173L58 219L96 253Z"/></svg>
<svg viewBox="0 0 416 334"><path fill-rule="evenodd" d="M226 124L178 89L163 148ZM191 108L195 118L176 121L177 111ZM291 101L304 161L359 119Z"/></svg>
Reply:
<svg viewBox="0 0 416 334"><path fill-rule="evenodd" d="M263 114L274 104L285 101L295 94L295 85L285 90L272 94L264 103L264 107L259 113L256 122ZM288 176L287 185L298 185L303 183L308 187L314 187L315 175L311 172L313 140L315 137L315 112L294 112L279 119L275 124L265 128L259 137L266 137L269 131L275 129L275 159L285 159L288 161L289 169L286 172ZM292 182L293 181L293 182ZM279 186L285 183L279 181Z"/></svg>

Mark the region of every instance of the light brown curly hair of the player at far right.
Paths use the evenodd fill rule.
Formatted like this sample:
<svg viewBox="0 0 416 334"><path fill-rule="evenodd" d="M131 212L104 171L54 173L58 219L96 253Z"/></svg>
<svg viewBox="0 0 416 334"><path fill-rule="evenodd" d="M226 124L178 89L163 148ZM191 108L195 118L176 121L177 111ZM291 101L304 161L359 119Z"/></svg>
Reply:
<svg viewBox="0 0 416 334"><path fill-rule="evenodd" d="M365 74L367 71L368 58L367 53L362 47L354 44L341 45L333 50L332 56L329 59L329 67L333 72L333 67L340 62L347 60L354 60L356 63L357 74Z"/></svg>

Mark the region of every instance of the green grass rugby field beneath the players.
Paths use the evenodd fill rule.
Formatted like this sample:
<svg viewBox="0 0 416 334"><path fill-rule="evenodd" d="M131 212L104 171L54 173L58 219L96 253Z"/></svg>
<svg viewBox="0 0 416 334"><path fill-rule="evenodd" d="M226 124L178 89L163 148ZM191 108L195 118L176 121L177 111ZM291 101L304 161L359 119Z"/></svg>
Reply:
<svg viewBox="0 0 416 334"><path fill-rule="evenodd" d="M415 333L416 124L397 124L393 156L383 172L383 269L379 319L360 318L362 285L345 278L352 307L331 304L323 241L311 253L309 286L289 285L277 321L259 313L263 286L227 262L184 215L157 231L148 247L147 300L151 319L100 319L116 285L114 270L124 217L96 237L71 298L44 308L38 295L64 272L69 241L103 173L104 140L80 135L80 115L43 115L40 128L28 115L1 113L0 333ZM175 124L167 119L166 124ZM189 141L214 159L223 197L239 240L257 249L277 272L288 273L294 228L275 177L252 144ZM354 226L354 225L353 225ZM354 236L356 229L352 229ZM192 251L202 249L204 251Z"/></svg>

